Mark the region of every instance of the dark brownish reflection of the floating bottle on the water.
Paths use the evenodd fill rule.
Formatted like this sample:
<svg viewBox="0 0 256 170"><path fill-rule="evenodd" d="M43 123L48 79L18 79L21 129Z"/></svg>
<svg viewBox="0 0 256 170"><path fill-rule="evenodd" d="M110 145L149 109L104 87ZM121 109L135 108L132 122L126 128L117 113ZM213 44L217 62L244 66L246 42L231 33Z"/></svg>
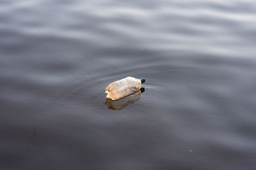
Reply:
<svg viewBox="0 0 256 170"><path fill-rule="evenodd" d="M134 103L134 101L138 101L140 99L141 93L145 92L145 89L142 87L140 91L131 94L129 96L126 96L122 99L118 99L117 101L112 101L111 99L106 99L105 104L108 106L108 108L113 110L121 110L125 106L128 106L131 103Z"/></svg>

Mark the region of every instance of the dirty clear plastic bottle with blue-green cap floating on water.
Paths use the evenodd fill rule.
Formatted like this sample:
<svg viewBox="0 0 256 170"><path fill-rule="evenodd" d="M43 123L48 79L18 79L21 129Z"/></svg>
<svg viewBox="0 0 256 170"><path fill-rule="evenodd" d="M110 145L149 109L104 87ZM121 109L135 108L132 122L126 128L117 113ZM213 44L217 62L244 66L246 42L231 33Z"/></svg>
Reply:
<svg viewBox="0 0 256 170"><path fill-rule="evenodd" d="M128 76L127 78L110 83L105 89L105 92L108 94L107 98L115 101L138 92L141 88L141 83L144 82L145 78L138 79Z"/></svg>

